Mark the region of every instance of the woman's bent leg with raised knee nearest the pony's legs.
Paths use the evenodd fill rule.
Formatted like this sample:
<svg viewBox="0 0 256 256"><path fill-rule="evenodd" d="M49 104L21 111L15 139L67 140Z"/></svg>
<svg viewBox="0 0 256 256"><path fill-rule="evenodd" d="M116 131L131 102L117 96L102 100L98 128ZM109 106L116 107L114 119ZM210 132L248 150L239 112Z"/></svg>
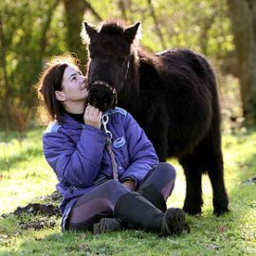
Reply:
<svg viewBox="0 0 256 256"><path fill-rule="evenodd" d="M167 209L166 200L174 190L175 176L171 164L159 163L145 176L137 192L164 212Z"/></svg>

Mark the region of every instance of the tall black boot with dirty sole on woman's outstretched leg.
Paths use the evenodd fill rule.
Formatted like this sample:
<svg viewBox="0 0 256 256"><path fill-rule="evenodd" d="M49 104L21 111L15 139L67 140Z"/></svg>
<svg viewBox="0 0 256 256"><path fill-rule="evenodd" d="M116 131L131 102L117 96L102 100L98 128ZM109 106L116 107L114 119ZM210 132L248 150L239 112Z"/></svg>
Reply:
<svg viewBox="0 0 256 256"><path fill-rule="evenodd" d="M127 192L120 196L114 214L136 229L162 235L180 234L187 229L183 210L168 209L163 213L138 192Z"/></svg>

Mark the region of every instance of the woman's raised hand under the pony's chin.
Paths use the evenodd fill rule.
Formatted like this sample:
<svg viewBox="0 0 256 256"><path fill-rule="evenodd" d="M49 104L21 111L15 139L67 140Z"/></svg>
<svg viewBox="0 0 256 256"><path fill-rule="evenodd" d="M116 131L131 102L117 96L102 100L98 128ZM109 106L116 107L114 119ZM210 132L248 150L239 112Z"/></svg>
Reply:
<svg viewBox="0 0 256 256"><path fill-rule="evenodd" d="M101 129L101 117L102 112L98 108L91 105L86 106L83 115L85 124Z"/></svg>

